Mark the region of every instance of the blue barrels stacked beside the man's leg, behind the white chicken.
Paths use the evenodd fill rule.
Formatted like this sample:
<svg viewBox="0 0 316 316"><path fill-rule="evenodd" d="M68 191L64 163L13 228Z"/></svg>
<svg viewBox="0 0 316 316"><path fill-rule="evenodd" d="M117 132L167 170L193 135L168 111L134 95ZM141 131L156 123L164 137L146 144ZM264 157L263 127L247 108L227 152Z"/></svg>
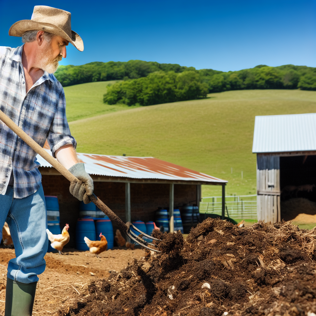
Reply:
<svg viewBox="0 0 316 316"><path fill-rule="evenodd" d="M47 228L52 234L58 235L61 233L58 198L52 195L45 195L45 202L47 210ZM50 241L48 241L47 252L58 252L58 250L52 248Z"/></svg>

